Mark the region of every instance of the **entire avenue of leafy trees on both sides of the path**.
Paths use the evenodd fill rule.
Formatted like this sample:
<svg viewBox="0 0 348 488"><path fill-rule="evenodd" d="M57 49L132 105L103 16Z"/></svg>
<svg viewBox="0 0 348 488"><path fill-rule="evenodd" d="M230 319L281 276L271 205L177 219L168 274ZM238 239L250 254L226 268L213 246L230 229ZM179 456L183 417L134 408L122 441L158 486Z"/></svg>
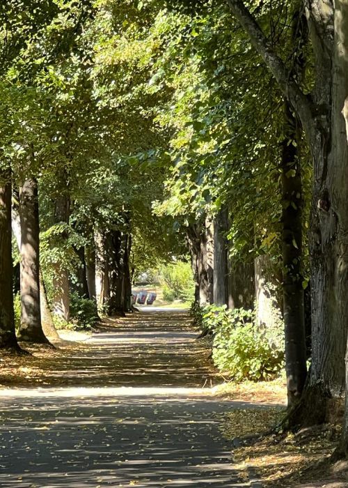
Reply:
<svg viewBox="0 0 348 488"><path fill-rule="evenodd" d="M324 421L346 389L347 2L12 0L0 16L1 344L12 183L23 338L40 251L67 320L74 288L127 309L132 268L186 236L201 303L248 305L269 263L294 421Z"/></svg>

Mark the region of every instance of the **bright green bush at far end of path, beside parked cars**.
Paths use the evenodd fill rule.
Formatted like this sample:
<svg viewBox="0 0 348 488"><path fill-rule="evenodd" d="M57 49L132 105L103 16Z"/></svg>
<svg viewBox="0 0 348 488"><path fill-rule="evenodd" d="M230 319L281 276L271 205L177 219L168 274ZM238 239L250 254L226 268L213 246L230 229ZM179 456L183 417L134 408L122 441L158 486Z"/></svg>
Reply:
<svg viewBox="0 0 348 488"><path fill-rule="evenodd" d="M164 285L165 300L193 301L195 284L189 263L177 261L162 266L159 270L159 279Z"/></svg>

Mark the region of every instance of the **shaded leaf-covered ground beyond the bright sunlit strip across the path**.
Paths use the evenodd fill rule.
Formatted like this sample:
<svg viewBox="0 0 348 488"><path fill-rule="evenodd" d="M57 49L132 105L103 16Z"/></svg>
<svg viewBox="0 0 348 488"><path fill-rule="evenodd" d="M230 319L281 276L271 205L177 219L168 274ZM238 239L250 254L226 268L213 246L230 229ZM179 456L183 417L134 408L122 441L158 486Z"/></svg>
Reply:
<svg viewBox="0 0 348 488"><path fill-rule="evenodd" d="M81 344L59 351L22 344L35 357L2 353L2 386L191 386L221 383L184 312L108 319ZM7 369L6 369L7 367Z"/></svg>

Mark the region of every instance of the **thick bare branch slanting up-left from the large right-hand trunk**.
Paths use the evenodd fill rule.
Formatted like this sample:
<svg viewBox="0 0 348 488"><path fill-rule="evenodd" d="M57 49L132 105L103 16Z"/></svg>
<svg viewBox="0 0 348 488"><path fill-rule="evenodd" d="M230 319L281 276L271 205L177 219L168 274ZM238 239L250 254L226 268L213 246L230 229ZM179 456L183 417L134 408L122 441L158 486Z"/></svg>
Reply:
<svg viewBox="0 0 348 488"><path fill-rule="evenodd" d="M296 114L299 116L301 123L307 135L310 135L313 126L313 104L310 102L299 84L290 75L290 70L287 69L285 63L274 52L271 45L267 41L266 36L260 29L258 22L249 12L242 0L227 0L233 15L242 25L244 31L248 34L251 44L258 51L264 63L268 66L272 75L276 78L280 90L283 95L294 108Z"/></svg>

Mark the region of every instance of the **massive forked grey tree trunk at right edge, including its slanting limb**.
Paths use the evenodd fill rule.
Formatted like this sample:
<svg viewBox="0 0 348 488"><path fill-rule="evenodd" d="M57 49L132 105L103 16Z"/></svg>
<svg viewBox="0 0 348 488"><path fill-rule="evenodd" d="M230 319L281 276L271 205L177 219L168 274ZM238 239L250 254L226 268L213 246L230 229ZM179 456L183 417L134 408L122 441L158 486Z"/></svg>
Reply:
<svg viewBox="0 0 348 488"><path fill-rule="evenodd" d="M346 0L306 2L315 61L315 86L310 97L301 91L244 2L228 0L228 4L299 116L313 158L312 365L299 421L322 422L328 400L345 390L346 376L348 151L344 107L348 96L348 4Z"/></svg>

